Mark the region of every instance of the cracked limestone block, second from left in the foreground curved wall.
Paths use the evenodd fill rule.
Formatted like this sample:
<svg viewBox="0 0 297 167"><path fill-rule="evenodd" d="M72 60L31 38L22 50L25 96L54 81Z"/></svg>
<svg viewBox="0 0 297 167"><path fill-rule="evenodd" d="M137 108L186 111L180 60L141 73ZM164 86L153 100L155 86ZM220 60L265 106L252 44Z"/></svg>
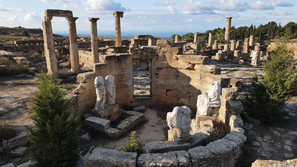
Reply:
<svg viewBox="0 0 297 167"><path fill-rule="evenodd" d="M188 167L191 166L189 154L186 151L166 152L164 154L143 154L137 159L139 167Z"/></svg>

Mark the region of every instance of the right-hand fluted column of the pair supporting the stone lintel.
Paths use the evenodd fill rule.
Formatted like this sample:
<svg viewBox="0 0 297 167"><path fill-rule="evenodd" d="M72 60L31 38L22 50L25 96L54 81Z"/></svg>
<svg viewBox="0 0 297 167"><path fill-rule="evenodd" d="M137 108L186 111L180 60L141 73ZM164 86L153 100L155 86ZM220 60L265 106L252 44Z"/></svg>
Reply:
<svg viewBox="0 0 297 167"><path fill-rule="evenodd" d="M78 18L66 17L69 26L69 46L70 46L70 64L71 70L79 70L79 56L78 56L78 45L77 45L77 34L75 21Z"/></svg>

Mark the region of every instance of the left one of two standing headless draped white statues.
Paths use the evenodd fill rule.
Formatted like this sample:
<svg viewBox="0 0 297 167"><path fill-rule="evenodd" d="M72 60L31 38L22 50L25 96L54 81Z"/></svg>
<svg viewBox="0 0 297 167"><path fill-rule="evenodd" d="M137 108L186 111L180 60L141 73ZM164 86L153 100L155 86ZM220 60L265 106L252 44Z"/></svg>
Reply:
<svg viewBox="0 0 297 167"><path fill-rule="evenodd" d="M95 110L99 111L105 108L105 101L106 101L105 83L102 76L95 78L95 87L96 87L96 94L97 94Z"/></svg>

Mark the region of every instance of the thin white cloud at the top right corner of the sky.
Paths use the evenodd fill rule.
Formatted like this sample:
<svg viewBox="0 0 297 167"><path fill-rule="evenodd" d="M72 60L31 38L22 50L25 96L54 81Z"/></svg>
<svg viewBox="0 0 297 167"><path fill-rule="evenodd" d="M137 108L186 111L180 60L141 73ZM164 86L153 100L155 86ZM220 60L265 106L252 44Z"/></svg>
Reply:
<svg viewBox="0 0 297 167"><path fill-rule="evenodd" d="M271 10L274 7L293 7L291 2L282 2L281 0L264 0L264 1L251 1L250 9L255 10Z"/></svg>

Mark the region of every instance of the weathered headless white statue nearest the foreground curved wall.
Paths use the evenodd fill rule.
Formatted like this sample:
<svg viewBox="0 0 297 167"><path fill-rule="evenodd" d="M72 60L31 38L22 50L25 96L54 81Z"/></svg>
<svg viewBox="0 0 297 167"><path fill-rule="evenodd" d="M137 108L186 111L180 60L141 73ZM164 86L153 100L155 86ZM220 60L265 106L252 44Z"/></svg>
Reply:
<svg viewBox="0 0 297 167"><path fill-rule="evenodd" d="M191 109L187 106L175 107L172 112L167 113L167 124L170 130L178 138L190 135Z"/></svg>

